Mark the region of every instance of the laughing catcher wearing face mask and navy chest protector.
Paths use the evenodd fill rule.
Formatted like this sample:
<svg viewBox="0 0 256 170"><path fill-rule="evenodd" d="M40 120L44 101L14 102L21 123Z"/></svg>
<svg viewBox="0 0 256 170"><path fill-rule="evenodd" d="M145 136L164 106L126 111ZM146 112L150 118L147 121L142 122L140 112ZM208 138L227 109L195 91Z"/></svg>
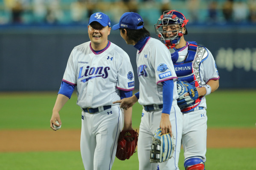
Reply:
<svg viewBox="0 0 256 170"><path fill-rule="evenodd" d="M219 75L209 50L196 42L187 42L186 24L189 20L175 10L166 11L155 24L157 35L172 53L177 77L195 85L198 99L183 112L182 145L186 170L204 170L206 161L207 114L205 96L219 86ZM188 96L189 93L186 94Z"/></svg>

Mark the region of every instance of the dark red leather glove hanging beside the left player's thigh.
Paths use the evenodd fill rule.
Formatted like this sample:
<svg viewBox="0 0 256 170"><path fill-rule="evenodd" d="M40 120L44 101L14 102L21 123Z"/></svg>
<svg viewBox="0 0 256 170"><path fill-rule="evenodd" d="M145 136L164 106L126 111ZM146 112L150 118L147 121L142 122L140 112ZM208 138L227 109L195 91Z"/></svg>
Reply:
<svg viewBox="0 0 256 170"><path fill-rule="evenodd" d="M116 149L116 158L124 161L129 159L134 153L138 142L137 130L122 130L119 135ZM132 137L133 141L126 141L125 138Z"/></svg>

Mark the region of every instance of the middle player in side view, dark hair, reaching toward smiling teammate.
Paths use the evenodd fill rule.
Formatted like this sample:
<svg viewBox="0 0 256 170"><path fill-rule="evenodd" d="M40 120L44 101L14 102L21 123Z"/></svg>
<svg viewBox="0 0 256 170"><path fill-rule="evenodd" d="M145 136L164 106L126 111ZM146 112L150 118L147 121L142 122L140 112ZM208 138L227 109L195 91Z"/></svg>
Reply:
<svg viewBox="0 0 256 170"><path fill-rule="evenodd" d="M171 54L163 43L150 37L143 26L143 18L137 13L124 13L112 29L119 29L125 42L138 50L136 62L140 92L116 102L125 109L131 108L137 101L143 105L137 148L139 169L157 170L157 163L151 164L149 158L154 132L160 127L162 133L174 135L176 148L174 158L160 163L159 167L161 170L177 170L182 113L177 106L177 76L170 60Z"/></svg>

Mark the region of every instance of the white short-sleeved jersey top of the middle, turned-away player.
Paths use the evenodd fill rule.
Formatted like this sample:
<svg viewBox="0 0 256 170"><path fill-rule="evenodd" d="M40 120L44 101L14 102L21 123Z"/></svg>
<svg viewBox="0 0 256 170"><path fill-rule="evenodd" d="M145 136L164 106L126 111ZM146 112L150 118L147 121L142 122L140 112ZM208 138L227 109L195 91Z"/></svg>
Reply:
<svg viewBox="0 0 256 170"><path fill-rule="evenodd" d="M143 50L137 52L137 73L140 80L141 105L163 104L162 81L173 79L173 105L178 98L177 76L171 61L171 54L160 40L149 38Z"/></svg>

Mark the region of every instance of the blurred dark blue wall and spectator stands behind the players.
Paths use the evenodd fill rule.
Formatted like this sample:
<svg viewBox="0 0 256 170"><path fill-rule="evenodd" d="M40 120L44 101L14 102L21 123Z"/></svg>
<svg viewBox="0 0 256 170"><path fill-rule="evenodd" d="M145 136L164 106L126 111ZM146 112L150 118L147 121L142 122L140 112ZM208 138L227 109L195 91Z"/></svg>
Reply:
<svg viewBox="0 0 256 170"><path fill-rule="evenodd" d="M0 91L58 91L73 47L89 41L94 12L108 14L111 26L137 12L157 38L154 24L171 9L189 19L185 39L212 52L220 89L256 88L256 0L0 0ZM136 49L118 30L109 40L128 53L136 74Z"/></svg>

